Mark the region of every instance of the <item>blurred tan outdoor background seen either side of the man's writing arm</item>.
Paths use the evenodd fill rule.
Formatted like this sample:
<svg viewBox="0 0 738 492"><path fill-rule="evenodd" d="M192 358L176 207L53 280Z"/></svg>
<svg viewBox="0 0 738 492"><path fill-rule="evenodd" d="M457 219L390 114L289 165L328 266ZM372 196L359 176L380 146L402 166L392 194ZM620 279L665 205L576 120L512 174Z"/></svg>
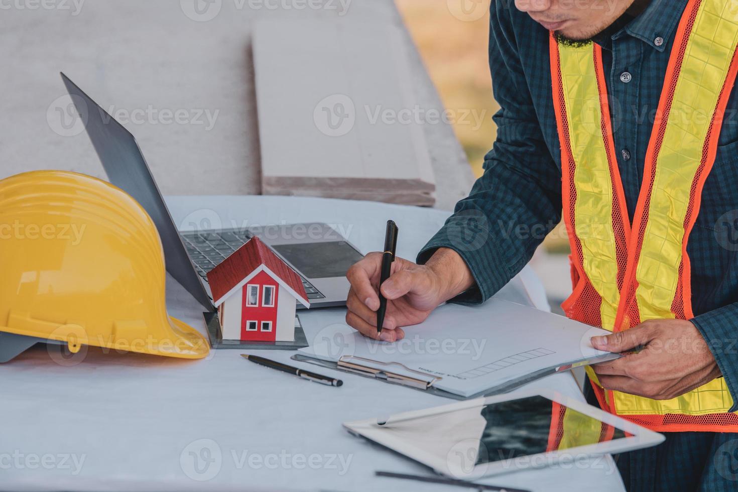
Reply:
<svg viewBox="0 0 738 492"><path fill-rule="evenodd" d="M487 62L489 1L395 2L444 106L459 115L469 113L468 118L455 119L452 126L479 177L484 155L497 135L492 116L500 108L492 94ZM466 10L455 11L461 8L458 4L466 4ZM559 313L559 304L571 293L569 253L564 224L559 224L531 263L545 285L551 308Z"/></svg>

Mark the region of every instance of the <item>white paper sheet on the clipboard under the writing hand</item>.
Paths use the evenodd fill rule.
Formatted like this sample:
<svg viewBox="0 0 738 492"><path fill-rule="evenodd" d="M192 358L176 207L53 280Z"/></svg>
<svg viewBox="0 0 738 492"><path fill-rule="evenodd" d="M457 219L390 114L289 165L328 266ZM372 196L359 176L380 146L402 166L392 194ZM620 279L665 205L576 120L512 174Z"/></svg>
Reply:
<svg viewBox="0 0 738 492"><path fill-rule="evenodd" d="M590 343L590 337L606 335L606 330L502 299L480 306L443 305L420 325L404 328L405 338L394 343L362 336L342 322L343 313L335 314L340 320L300 352L327 361L344 357L426 381L435 376L440 379L433 387L463 397L548 367L607 354Z"/></svg>

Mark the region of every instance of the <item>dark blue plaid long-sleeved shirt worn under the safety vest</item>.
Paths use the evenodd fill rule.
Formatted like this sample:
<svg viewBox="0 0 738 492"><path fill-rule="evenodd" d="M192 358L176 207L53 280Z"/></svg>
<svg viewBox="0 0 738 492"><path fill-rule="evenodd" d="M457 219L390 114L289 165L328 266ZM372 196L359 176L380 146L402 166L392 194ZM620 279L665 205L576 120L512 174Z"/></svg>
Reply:
<svg viewBox="0 0 738 492"><path fill-rule="evenodd" d="M686 3L652 0L637 18L624 15L596 38L603 47L615 150L631 220L666 66ZM607 8L607 2L601 4ZM513 0L492 1L489 63L494 97L501 106L494 116L497 140L485 157L484 175L418 255L418 262L424 263L435 249L448 247L466 260L476 287L456 302L483 302L497 292L528 263L562 213L548 31L518 11ZM703 189L687 253L692 264L692 322L708 341L738 403L737 92L733 90L728 103L717 159ZM732 410L738 410L738 405ZM692 444L714 448L709 439L704 445ZM738 482L732 485L738 488Z"/></svg>

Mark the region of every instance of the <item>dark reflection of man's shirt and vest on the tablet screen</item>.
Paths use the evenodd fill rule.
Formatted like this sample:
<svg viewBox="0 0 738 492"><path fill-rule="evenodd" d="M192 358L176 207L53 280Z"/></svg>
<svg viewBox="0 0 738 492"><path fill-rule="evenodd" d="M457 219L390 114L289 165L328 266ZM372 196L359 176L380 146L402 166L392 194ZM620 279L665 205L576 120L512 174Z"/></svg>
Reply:
<svg viewBox="0 0 738 492"><path fill-rule="evenodd" d="M480 411L477 465L622 439L627 434L542 396L492 403Z"/></svg>

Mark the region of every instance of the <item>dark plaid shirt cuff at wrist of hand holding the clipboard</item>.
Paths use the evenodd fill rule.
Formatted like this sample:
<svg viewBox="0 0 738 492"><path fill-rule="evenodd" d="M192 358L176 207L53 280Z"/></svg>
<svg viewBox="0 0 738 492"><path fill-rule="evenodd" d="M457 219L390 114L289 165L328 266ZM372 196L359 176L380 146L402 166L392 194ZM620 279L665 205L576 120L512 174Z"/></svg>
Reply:
<svg viewBox="0 0 738 492"><path fill-rule="evenodd" d="M728 412L738 412L738 303L709 311L690 320L707 342L733 397Z"/></svg>

